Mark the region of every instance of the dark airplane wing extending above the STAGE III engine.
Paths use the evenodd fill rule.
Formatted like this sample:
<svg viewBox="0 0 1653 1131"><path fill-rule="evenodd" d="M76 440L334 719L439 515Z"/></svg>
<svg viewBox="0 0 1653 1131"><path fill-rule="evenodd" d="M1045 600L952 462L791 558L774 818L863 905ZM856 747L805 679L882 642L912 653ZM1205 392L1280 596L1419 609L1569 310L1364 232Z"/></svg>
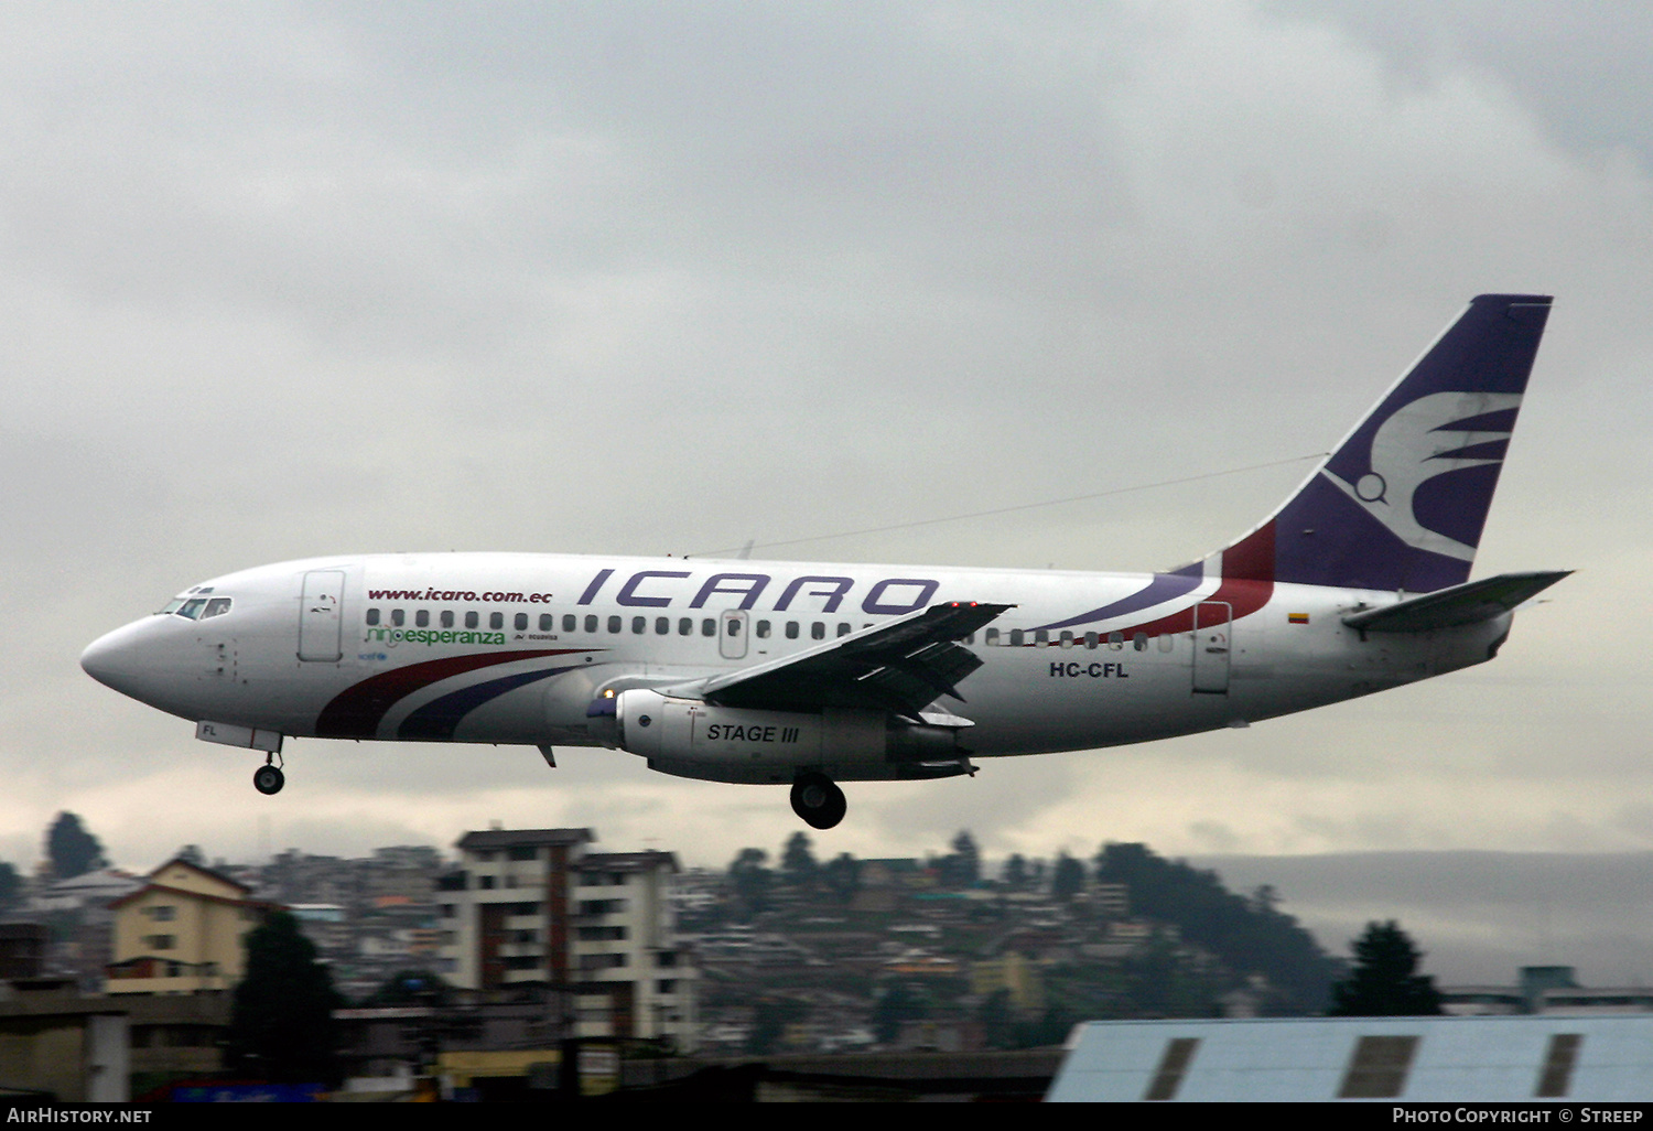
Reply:
<svg viewBox="0 0 1653 1131"><path fill-rule="evenodd" d="M1013 607L931 605L808 651L663 691L765 711L874 708L916 718L942 694L964 701L959 681L982 660L957 642Z"/></svg>

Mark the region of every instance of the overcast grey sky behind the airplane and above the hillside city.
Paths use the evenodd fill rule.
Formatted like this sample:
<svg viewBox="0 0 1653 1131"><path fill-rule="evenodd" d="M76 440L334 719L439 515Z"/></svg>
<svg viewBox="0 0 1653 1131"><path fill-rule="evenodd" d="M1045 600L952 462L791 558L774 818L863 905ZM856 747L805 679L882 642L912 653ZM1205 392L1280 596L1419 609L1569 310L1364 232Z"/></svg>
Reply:
<svg viewBox="0 0 1653 1131"><path fill-rule="evenodd" d="M307 554L716 551L1322 451L1483 291L1555 311L1476 575L1579 570L1496 663L851 785L817 850L1653 848L1650 41L1509 0L3 5L0 858L61 809L141 870L489 820L774 850L782 790L610 751L299 741L264 799L76 660ZM1304 471L774 556L1165 567Z"/></svg>

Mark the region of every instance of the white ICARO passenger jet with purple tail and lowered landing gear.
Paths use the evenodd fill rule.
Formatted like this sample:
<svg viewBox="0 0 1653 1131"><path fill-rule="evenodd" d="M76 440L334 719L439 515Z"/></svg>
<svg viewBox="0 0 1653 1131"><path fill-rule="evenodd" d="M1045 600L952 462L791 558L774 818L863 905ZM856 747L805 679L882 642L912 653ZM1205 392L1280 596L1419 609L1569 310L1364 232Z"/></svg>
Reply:
<svg viewBox="0 0 1653 1131"><path fill-rule="evenodd" d="M294 737L602 746L779 784L1147 742L1498 655L1569 570L1470 580L1551 298L1481 294L1273 514L1160 574L344 554L192 585L81 666L264 754Z"/></svg>

